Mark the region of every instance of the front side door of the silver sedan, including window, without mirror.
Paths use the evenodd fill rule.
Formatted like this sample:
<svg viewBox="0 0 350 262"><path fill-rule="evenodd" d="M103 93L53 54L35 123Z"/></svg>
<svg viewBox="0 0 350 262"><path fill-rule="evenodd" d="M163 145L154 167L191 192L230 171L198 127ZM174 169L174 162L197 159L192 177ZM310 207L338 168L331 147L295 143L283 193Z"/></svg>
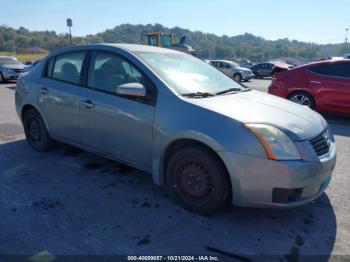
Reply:
<svg viewBox="0 0 350 262"><path fill-rule="evenodd" d="M90 54L87 86L81 92L80 131L82 143L101 153L151 167L156 89L127 59L115 53ZM118 85L142 83L145 98L121 97Z"/></svg>

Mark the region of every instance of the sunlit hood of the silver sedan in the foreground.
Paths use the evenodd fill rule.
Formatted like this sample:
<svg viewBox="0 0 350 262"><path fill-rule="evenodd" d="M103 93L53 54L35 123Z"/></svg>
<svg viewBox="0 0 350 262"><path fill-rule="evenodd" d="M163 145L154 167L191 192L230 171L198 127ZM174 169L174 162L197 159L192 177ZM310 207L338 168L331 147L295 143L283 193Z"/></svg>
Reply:
<svg viewBox="0 0 350 262"><path fill-rule="evenodd" d="M239 92L209 98L190 99L193 104L241 123L264 123L287 133L294 141L319 135L326 127L315 111L259 91Z"/></svg>

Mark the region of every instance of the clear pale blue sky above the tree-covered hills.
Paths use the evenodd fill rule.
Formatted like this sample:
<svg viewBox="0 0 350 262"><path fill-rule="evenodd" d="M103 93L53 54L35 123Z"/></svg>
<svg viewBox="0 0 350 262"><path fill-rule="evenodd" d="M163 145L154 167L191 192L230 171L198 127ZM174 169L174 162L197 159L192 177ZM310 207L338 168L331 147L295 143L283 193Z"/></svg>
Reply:
<svg viewBox="0 0 350 262"><path fill-rule="evenodd" d="M84 36L117 25L160 23L216 35L341 43L350 0L0 0L0 25ZM350 32L349 32L350 37Z"/></svg>

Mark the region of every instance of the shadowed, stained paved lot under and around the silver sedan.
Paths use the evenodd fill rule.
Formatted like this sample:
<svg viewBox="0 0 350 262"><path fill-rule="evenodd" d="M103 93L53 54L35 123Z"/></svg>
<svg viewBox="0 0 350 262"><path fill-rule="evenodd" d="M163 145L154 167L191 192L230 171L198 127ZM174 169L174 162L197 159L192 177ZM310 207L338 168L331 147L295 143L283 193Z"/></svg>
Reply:
<svg viewBox="0 0 350 262"><path fill-rule="evenodd" d="M247 85L263 91L268 83ZM178 207L139 170L65 145L33 152L23 139L13 101L14 85L0 85L2 255L350 259L350 119L327 117L338 162L330 187L313 203L292 210L232 208L202 217Z"/></svg>

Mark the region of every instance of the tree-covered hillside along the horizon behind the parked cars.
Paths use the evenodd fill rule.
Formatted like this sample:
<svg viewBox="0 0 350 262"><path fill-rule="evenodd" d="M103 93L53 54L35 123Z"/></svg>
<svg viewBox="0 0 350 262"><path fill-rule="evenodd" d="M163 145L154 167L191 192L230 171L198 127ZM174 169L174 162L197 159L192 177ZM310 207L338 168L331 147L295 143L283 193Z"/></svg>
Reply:
<svg viewBox="0 0 350 262"><path fill-rule="evenodd" d="M250 59L256 62L279 57L301 57L313 60L328 56L342 56L350 52L350 47L346 47L343 43L319 45L287 38L271 41L249 33L232 37L217 36L180 27L167 28L160 24L122 24L95 35L73 37L73 42L74 44L145 43L145 38L142 40L141 35L150 31L173 32L178 40L185 35L187 43L197 50L201 58ZM54 31L29 31L24 27L16 30L0 26L0 51L18 52L33 46L52 51L68 44L68 34L57 34Z"/></svg>

